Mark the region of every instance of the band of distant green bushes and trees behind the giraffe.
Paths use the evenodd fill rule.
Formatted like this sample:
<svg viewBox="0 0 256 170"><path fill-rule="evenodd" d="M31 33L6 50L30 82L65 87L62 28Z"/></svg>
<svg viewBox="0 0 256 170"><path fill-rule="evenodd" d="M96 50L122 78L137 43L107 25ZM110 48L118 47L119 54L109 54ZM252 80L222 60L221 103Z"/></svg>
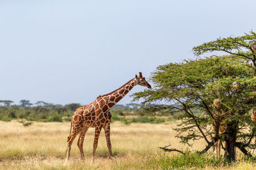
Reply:
<svg viewBox="0 0 256 170"><path fill-rule="evenodd" d="M23 102L29 102L24 100ZM23 107L20 105L0 106L0 120L3 118L5 121L9 121L15 118L25 119L28 122L70 122L74 110L80 107L81 104L71 103L61 106L60 104L51 104L44 101L38 101L35 106ZM132 122L149 122L149 123L161 123L164 119L150 118L150 117L138 117L140 115L140 109L138 104L118 104L111 108L112 122L120 121L124 124L131 124ZM136 118L126 118L132 116Z"/></svg>

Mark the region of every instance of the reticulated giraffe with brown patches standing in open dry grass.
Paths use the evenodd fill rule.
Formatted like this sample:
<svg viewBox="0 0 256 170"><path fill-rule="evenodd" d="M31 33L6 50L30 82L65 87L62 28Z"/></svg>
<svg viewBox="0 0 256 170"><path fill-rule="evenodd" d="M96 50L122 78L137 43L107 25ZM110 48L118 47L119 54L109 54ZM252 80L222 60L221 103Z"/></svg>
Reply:
<svg viewBox="0 0 256 170"><path fill-rule="evenodd" d="M79 134L79 138L77 140L77 146L81 153L81 158L84 158L83 153L83 141L84 135L88 131L89 127L95 127L95 136L93 142L93 159L95 158L95 150L98 145L98 139L101 129L103 128L105 131L107 146L109 150L110 157L113 157L113 153L111 150L111 141L110 141L110 120L111 113L109 112L110 108L112 108L118 101L120 101L135 85L141 85L148 87L151 89L150 84L145 80L145 77L142 76L142 73L135 75L135 78L125 83L122 87L105 94L103 96L98 96L95 101L88 104L87 106L82 106L81 108L77 108L74 112L71 125L70 125L70 134L67 139L68 149L67 149L67 160L70 157L70 149L72 142L76 138L77 134Z"/></svg>

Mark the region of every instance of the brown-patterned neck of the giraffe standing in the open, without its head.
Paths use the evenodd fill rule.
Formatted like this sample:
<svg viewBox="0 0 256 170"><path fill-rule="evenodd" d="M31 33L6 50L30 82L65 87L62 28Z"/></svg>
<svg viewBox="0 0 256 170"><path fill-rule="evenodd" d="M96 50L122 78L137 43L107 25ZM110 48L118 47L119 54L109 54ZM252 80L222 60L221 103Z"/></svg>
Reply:
<svg viewBox="0 0 256 170"><path fill-rule="evenodd" d="M118 101L120 101L134 86L136 85L134 79L128 81L120 87L119 89L116 89L115 91L101 96L104 101L106 101L106 104L108 105L108 108L110 109L113 107Z"/></svg>

